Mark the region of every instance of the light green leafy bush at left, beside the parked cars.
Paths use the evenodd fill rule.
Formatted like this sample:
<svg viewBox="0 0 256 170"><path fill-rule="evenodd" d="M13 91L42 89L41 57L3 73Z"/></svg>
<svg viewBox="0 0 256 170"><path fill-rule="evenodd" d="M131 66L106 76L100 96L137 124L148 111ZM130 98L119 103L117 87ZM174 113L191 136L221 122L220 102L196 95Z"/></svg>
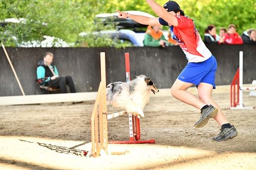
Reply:
<svg viewBox="0 0 256 170"><path fill-rule="evenodd" d="M5 18L26 18L26 24L13 23L0 28L0 40L7 46L15 46L22 41L43 40L44 35L59 37L66 42L79 41L80 32L94 32L106 29L94 16L103 12L108 1L11 1L0 0L0 9ZM114 28L114 27L113 27ZM108 26L107 29L113 29ZM15 36L16 41L11 38ZM90 34L92 35L92 34ZM88 37L89 46L110 46L113 44L108 36Z"/></svg>

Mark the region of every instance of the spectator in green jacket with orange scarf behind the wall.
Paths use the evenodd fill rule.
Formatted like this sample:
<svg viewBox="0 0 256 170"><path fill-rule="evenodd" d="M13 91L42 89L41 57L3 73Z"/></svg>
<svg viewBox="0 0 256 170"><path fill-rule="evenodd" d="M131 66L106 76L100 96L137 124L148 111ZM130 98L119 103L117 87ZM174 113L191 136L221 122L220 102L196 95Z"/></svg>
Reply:
<svg viewBox="0 0 256 170"><path fill-rule="evenodd" d="M148 26L143 40L145 46L168 46L160 25Z"/></svg>

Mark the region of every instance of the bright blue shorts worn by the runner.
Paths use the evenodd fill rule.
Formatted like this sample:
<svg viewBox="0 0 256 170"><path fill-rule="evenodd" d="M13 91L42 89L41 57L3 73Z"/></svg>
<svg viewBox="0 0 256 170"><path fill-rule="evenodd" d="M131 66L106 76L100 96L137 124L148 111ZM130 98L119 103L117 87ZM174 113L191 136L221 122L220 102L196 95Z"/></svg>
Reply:
<svg viewBox="0 0 256 170"><path fill-rule="evenodd" d="M178 79L183 82L193 83L197 86L200 83L211 84L215 88L215 73L217 70L217 61L213 55L203 62L187 63L181 71Z"/></svg>

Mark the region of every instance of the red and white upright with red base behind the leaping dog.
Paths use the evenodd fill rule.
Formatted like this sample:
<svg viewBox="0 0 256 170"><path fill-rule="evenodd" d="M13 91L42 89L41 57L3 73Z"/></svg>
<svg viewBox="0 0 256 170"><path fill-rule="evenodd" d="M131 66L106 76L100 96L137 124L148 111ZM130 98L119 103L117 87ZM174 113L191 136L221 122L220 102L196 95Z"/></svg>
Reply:
<svg viewBox="0 0 256 170"><path fill-rule="evenodd" d="M129 53L125 53L125 72L126 72L126 82L131 81L130 77L130 59ZM123 112L118 113L122 115ZM132 143L155 143L154 139L151 140L140 140L140 119L137 116L129 114L129 135L130 140L128 141L110 141L112 144L132 144Z"/></svg>

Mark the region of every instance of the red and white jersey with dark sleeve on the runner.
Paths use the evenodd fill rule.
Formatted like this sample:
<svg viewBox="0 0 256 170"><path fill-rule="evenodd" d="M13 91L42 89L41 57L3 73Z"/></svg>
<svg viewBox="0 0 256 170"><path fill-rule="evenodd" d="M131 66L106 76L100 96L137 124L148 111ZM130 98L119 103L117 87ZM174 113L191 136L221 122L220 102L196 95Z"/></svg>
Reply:
<svg viewBox="0 0 256 170"><path fill-rule="evenodd" d="M194 21L186 16L176 16L178 19L177 27L170 27L172 38L176 40L182 51L185 53L188 62L202 62L210 58L211 52L201 39ZM159 18L161 25L168 26L168 22Z"/></svg>

